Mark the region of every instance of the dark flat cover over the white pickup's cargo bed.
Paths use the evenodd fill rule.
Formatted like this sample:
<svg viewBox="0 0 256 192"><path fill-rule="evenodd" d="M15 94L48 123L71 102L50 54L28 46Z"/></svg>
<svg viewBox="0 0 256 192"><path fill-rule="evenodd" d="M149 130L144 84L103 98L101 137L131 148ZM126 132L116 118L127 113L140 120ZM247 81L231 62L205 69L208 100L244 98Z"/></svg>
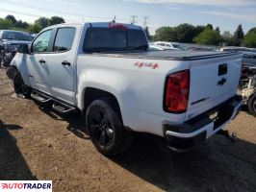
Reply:
<svg viewBox="0 0 256 192"><path fill-rule="evenodd" d="M92 55L114 58L136 58L148 60L204 60L239 55L240 53L230 52L198 52L198 51L131 51L131 52L101 52Z"/></svg>

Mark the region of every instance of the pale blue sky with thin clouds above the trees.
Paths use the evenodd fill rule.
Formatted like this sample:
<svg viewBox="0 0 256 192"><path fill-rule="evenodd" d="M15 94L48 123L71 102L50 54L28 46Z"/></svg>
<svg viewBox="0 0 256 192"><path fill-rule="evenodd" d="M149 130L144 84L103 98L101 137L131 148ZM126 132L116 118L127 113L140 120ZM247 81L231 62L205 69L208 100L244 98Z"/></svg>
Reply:
<svg viewBox="0 0 256 192"><path fill-rule="evenodd" d="M111 21L146 25L154 35L162 26L211 23L234 33L239 24L246 33L256 27L256 0L0 0L0 17L13 14L33 23L39 16L59 15L66 22Z"/></svg>

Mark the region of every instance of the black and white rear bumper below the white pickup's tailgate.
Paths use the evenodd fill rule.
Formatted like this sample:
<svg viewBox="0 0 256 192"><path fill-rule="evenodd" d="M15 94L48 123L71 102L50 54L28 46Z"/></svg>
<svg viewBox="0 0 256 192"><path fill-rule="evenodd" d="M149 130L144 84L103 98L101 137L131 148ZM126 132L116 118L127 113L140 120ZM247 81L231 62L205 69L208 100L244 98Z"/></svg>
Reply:
<svg viewBox="0 0 256 192"><path fill-rule="evenodd" d="M242 98L235 96L182 125L164 124L168 147L177 152L189 150L230 123L239 113L242 104ZM213 114L217 114L217 112L218 115L213 117Z"/></svg>

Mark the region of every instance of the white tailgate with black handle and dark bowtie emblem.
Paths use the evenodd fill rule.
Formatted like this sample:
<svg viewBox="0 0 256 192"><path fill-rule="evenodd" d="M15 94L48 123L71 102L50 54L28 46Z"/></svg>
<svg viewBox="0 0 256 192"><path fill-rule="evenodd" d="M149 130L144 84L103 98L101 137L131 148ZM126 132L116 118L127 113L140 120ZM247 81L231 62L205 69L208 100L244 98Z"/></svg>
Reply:
<svg viewBox="0 0 256 192"><path fill-rule="evenodd" d="M186 120L215 108L236 95L242 55L192 60L191 87Z"/></svg>

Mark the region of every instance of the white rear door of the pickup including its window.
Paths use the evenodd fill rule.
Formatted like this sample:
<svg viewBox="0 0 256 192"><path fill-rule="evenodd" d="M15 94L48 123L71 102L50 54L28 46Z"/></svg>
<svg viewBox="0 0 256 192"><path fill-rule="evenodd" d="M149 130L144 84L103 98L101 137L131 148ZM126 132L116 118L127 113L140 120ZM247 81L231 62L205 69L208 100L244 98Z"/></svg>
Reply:
<svg viewBox="0 0 256 192"><path fill-rule="evenodd" d="M55 98L74 104L75 41L79 32L76 27L62 27L56 29L55 34L52 53L47 56L49 84Z"/></svg>

